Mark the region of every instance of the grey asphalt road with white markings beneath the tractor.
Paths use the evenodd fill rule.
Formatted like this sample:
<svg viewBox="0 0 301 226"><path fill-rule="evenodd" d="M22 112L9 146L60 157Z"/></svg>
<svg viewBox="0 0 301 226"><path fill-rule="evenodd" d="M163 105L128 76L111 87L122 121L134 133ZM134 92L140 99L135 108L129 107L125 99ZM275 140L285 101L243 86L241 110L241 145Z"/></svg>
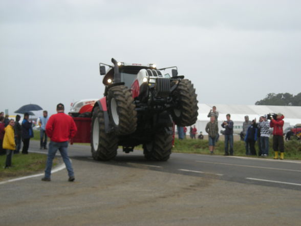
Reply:
<svg viewBox="0 0 301 226"><path fill-rule="evenodd" d="M30 150L40 151L31 141ZM69 148L66 169L0 181L0 225L301 225L301 161L141 151L98 162ZM1 183L2 182L2 183Z"/></svg>

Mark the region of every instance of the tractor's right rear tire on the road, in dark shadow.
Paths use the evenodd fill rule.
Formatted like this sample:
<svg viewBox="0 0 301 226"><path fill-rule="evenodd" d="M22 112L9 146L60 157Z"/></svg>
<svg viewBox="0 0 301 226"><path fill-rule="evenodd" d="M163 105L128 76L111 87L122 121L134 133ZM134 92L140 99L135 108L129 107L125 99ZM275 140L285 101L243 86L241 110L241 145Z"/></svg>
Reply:
<svg viewBox="0 0 301 226"><path fill-rule="evenodd" d="M153 141L143 144L143 154L147 160L167 161L173 148L173 134L165 129L154 136Z"/></svg>

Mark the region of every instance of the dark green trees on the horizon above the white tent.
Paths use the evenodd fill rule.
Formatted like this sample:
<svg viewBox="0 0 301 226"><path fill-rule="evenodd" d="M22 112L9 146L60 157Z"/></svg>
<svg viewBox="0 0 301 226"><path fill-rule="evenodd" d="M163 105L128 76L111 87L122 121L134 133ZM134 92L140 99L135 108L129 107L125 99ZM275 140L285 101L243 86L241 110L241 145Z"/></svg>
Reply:
<svg viewBox="0 0 301 226"><path fill-rule="evenodd" d="M269 93L266 98L256 101L255 105L301 106L301 93Z"/></svg>

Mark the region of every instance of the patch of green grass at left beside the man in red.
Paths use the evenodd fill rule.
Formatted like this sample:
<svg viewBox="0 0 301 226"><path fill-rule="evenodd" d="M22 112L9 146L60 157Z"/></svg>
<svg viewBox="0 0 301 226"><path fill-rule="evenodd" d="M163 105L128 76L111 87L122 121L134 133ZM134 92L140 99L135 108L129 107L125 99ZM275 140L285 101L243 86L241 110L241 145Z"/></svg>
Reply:
<svg viewBox="0 0 301 226"><path fill-rule="evenodd" d="M0 156L0 180L7 177L25 176L35 172L42 172L46 166L47 155L29 153L14 154L12 157L12 167L4 169L6 156ZM53 166L57 164L57 159L54 159Z"/></svg>

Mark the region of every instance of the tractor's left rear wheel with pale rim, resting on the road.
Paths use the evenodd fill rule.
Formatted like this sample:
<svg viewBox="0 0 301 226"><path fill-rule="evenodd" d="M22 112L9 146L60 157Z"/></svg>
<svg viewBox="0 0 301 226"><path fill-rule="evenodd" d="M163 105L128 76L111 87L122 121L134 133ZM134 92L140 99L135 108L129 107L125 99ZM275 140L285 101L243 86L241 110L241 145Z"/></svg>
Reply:
<svg viewBox="0 0 301 226"><path fill-rule="evenodd" d="M110 160L117 155L118 138L114 133L104 132L103 111L95 107L91 123L91 152L95 160Z"/></svg>

